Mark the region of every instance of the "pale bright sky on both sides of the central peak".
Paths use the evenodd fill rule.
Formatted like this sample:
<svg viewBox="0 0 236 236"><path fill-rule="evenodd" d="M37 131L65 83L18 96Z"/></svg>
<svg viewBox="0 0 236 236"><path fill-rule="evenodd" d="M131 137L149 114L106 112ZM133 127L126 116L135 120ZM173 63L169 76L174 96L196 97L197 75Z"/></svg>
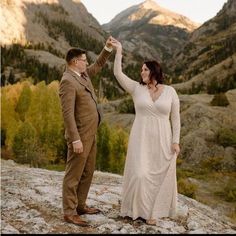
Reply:
<svg viewBox="0 0 236 236"><path fill-rule="evenodd" d="M221 10L227 0L154 0L161 7L188 17L196 23L204 23ZM81 0L88 12L102 25L118 13L144 0Z"/></svg>

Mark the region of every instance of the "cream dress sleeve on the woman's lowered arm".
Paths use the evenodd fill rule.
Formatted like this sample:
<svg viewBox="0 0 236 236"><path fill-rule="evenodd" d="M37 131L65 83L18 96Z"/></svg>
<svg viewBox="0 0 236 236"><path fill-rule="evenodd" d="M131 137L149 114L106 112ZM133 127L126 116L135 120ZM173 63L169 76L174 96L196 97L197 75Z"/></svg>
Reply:
<svg viewBox="0 0 236 236"><path fill-rule="evenodd" d="M172 143L179 143L180 139L180 102L179 97L173 88L171 103L171 126L172 126Z"/></svg>

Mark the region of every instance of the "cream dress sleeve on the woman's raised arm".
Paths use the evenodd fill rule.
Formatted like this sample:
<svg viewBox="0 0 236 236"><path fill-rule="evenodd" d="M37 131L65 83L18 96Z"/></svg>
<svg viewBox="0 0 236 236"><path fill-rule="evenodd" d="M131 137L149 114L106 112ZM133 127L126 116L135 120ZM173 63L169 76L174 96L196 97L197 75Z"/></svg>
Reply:
<svg viewBox="0 0 236 236"><path fill-rule="evenodd" d="M132 94L138 82L130 79L122 72L121 60L122 60L122 54L120 52L116 52L115 62L114 62L114 75L117 81L119 82L120 86L126 92Z"/></svg>

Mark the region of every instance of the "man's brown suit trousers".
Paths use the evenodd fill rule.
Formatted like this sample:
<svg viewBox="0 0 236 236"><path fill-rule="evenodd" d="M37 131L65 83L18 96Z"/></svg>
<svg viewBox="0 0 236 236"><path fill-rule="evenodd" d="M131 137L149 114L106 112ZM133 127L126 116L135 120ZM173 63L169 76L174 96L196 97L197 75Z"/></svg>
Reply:
<svg viewBox="0 0 236 236"><path fill-rule="evenodd" d="M83 142L83 152L73 152L72 143L68 144L67 162L62 187L63 212L66 215L77 215L76 210L86 204L96 164L96 136Z"/></svg>

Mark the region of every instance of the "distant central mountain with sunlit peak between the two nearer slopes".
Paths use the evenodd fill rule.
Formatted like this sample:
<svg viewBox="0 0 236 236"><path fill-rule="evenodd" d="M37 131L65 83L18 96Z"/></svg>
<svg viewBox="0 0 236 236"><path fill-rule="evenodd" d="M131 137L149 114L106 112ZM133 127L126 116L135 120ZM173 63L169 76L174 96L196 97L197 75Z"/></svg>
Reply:
<svg viewBox="0 0 236 236"><path fill-rule="evenodd" d="M136 56L163 61L169 59L198 26L187 17L146 0L119 13L104 24L103 29L118 38L124 49L134 55L134 60Z"/></svg>

